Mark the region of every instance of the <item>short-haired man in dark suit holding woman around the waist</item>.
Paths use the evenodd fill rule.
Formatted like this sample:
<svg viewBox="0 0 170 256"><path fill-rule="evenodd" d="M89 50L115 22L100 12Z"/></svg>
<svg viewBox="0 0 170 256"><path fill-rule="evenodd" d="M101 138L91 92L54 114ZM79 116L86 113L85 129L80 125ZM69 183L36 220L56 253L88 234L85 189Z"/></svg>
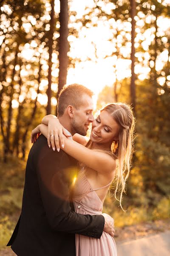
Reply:
<svg viewBox="0 0 170 256"><path fill-rule="evenodd" d="M79 84L65 87L60 93L58 119L71 135L87 134L94 120L92 95ZM76 161L64 151L49 148L42 134L32 146L20 219L7 244L18 256L75 256L75 233L100 238L104 229L113 234L109 215L74 212L69 189L75 166Z"/></svg>

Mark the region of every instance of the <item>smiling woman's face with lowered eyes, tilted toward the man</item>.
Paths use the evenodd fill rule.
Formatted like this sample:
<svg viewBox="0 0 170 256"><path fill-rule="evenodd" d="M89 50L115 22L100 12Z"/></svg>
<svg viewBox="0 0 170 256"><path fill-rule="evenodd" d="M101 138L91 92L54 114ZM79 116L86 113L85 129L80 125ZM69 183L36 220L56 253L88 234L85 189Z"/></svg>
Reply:
<svg viewBox="0 0 170 256"><path fill-rule="evenodd" d="M92 122L91 141L110 147L113 140L118 140L118 135L119 125L108 111L103 110Z"/></svg>

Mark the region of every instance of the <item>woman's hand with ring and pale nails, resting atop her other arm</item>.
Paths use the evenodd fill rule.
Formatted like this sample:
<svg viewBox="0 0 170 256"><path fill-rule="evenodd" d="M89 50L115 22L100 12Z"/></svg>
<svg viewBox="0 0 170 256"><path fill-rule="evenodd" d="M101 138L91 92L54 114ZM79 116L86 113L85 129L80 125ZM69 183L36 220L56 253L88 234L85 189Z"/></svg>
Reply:
<svg viewBox="0 0 170 256"><path fill-rule="evenodd" d="M54 136L53 136L54 135ZM64 148L64 137L71 137L65 130L64 127L60 124L58 118L50 118L48 120L48 146L49 148L52 146L53 150L55 150L55 146L57 151L59 152L59 140L62 148Z"/></svg>

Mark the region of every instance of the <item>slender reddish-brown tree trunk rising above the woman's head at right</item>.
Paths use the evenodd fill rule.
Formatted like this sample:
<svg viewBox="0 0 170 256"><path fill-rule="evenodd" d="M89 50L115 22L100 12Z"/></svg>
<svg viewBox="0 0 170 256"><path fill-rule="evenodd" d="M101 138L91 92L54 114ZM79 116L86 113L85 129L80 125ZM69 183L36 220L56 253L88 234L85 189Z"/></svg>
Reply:
<svg viewBox="0 0 170 256"><path fill-rule="evenodd" d="M134 40L135 40L135 14L136 14L136 2L135 0L131 0L131 19L132 19L132 32L131 32L131 43L132 43L132 50L131 50L131 83L130 83L130 97L131 97L131 103L133 107L133 112L135 113L136 108L136 88L135 88L135 46L134 46Z"/></svg>

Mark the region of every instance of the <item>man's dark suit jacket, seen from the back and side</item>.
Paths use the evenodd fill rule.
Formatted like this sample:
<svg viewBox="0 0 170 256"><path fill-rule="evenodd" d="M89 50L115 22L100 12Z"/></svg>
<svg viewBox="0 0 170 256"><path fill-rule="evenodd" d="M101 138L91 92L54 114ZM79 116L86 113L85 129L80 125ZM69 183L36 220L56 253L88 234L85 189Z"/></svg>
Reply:
<svg viewBox="0 0 170 256"><path fill-rule="evenodd" d="M40 135L29 152L21 215L7 244L18 256L75 256L75 233L100 238L104 217L71 208L75 173L75 160Z"/></svg>

